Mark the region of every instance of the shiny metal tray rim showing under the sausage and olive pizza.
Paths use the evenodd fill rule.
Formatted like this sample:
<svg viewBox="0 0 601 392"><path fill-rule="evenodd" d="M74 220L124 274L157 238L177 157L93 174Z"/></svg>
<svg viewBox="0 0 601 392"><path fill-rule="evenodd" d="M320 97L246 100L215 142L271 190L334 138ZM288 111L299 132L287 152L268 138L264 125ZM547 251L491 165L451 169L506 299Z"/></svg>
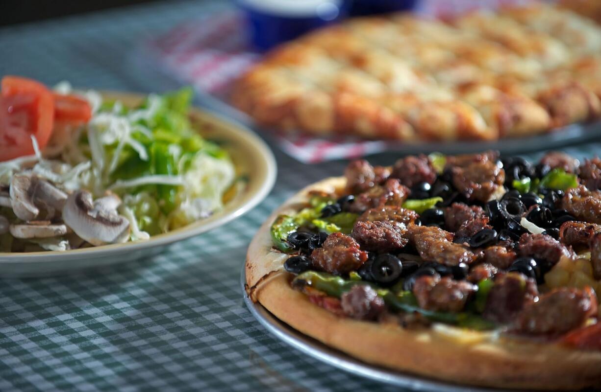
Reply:
<svg viewBox="0 0 601 392"><path fill-rule="evenodd" d="M383 367L370 365L362 361L356 360L341 351L332 349L323 343L308 337L299 331L294 330L288 324L280 321L272 315L269 310L265 309L260 303L252 302L251 298L246 294L245 289L246 274L245 266L242 266L242 274L240 276L240 285L244 295L246 307L252 313L255 319L260 322L263 327L273 336L277 337L282 342L299 351L310 355L317 360L327 363L331 366L346 372L372 379L374 381L384 382L394 385L395 387L407 388L412 391L432 391L432 392L510 392L511 390L501 390L496 388L481 388L470 387L469 385L448 384L433 379L424 378L421 376L410 375L408 373L395 372Z"/></svg>

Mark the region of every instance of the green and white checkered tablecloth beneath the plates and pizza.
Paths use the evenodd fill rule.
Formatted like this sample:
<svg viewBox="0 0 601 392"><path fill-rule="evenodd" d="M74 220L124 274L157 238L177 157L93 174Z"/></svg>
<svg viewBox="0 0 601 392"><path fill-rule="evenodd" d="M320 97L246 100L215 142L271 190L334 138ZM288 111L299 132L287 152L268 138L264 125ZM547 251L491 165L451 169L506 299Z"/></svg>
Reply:
<svg viewBox="0 0 601 392"><path fill-rule="evenodd" d="M172 80L147 70L136 46L225 7L160 2L3 28L0 76L142 92L173 88ZM599 154L601 144L567 151ZM294 191L341 173L345 164L305 165L275 154L272 193L222 228L150 260L0 280L0 391L392 391L289 348L243 304L240 269L261 222Z"/></svg>

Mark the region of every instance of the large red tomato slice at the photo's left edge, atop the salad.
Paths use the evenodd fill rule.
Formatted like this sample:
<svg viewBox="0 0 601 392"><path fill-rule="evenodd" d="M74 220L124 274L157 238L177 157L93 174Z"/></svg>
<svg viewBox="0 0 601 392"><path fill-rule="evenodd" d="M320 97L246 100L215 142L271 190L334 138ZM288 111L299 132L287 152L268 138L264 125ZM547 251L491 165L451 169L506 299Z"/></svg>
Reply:
<svg viewBox="0 0 601 392"><path fill-rule="evenodd" d="M0 161L31 155L31 135L44 148L52 134L54 98L43 84L25 77L2 78Z"/></svg>

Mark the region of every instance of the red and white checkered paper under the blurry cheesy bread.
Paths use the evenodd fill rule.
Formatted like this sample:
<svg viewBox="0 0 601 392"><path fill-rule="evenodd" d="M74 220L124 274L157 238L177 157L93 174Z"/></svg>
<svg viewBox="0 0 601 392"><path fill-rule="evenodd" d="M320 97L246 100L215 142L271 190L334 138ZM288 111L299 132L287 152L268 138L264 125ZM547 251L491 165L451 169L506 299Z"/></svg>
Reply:
<svg viewBox="0 0 601 392"><path fill-rule="evenodd" d="M417 10L426 16L445 16L475 8L523 4L527 0L429 0ZM148 43L158 65L180 82L227 104L232 82L261 59L248 44L245 19L240 11L189 20ZM249 120L250 121L250 120ZM350 136L315 137L304 133L270 131L279 147L305 163L355 158L394 151L395 143Z"/></svg>

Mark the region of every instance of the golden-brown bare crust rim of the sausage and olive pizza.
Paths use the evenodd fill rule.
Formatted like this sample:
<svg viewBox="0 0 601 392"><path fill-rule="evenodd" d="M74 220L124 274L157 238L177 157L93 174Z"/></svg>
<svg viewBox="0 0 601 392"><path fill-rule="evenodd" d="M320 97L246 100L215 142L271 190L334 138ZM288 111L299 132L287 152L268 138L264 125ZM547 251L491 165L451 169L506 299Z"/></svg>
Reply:
<svg viewBox="0 0 601 392"><path fill-rule="evenodd" d="M287 255L273 250L270 225L294 211L311 190L343 188L343 177L304 188L285 202L258 231L246 258L246 292L294 329L352 357L401 372L484 387L578 390L601 387L601 352L578 351L494 333L437 324L410 330L397 324L357 321L328 312L290 287Z"/></svg>

